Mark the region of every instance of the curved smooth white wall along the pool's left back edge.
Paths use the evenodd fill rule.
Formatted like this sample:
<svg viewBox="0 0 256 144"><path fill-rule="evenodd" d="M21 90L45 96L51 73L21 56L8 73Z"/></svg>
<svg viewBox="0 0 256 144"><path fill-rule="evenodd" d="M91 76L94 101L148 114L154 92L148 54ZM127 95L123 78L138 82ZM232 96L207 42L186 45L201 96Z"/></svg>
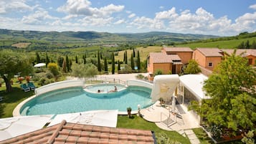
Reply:
<svg viewBox="0 0 256 144"><path fill-rule="evenodd" d="M58 90L66 87L83 87L85 84L81 80L65 80L62 82L54 82L49 85L44 85L34 90L36 95L40 95L45 92L49 92L52 90Z"/></svg>

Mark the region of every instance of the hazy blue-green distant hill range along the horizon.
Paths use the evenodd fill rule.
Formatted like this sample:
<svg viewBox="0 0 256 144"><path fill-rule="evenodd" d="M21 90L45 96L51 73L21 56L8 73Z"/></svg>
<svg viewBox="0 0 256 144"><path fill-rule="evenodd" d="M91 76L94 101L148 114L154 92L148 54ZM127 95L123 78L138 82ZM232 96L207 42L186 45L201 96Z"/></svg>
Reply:
<svg viewBox="0 0 256 144"><path fill-rule="evenodd" d="M0 29L0 40L14 40L15 42L46 41L62 44L72 43L153 43L165 44L171 42L191 42L195 40L216 38L213 35L176 34L169 32L146 32L136 34L118 34L108 32L39 32L16 31Z"/></svg>

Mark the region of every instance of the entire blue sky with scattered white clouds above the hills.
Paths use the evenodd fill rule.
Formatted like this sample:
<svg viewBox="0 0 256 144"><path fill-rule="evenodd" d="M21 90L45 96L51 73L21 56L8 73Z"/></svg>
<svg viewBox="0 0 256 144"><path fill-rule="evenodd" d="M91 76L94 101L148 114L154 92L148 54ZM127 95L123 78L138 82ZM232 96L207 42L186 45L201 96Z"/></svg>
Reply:
<svg viewBox="0 0 256 144"><path fill-rule="evenodd" d="M255 32L255 0L1 0L0 29L96 32Z"/></svg>

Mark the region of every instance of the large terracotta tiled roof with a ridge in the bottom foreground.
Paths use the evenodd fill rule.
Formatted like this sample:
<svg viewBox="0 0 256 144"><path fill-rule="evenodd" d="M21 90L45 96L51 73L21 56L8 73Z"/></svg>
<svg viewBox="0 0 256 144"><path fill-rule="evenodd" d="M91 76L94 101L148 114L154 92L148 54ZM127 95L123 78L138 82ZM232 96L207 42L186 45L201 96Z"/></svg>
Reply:
<svg viewBox="0 0 256 144"><path fill-rule="evenodd" d="M66 123L19 135L15 138L0 141L0 144L18 143L156 143L150 130L132 130L125 128L108 128L94 125Z"/></svg>

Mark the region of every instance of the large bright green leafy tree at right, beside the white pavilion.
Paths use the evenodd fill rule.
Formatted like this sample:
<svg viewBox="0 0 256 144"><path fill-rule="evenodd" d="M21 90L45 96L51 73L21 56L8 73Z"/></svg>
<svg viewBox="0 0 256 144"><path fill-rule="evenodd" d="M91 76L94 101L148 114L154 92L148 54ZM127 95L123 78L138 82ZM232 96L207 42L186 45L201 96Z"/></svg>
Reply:
<svg viewBox="0 0 256 144"><path fill-rule="evenodd" d="M256 72L247 59L236 56L236 50L224 57L217 69L205 81L204 90L211 100L196 111L207 123L223 128L253 128L256 122Z"/></svg>

